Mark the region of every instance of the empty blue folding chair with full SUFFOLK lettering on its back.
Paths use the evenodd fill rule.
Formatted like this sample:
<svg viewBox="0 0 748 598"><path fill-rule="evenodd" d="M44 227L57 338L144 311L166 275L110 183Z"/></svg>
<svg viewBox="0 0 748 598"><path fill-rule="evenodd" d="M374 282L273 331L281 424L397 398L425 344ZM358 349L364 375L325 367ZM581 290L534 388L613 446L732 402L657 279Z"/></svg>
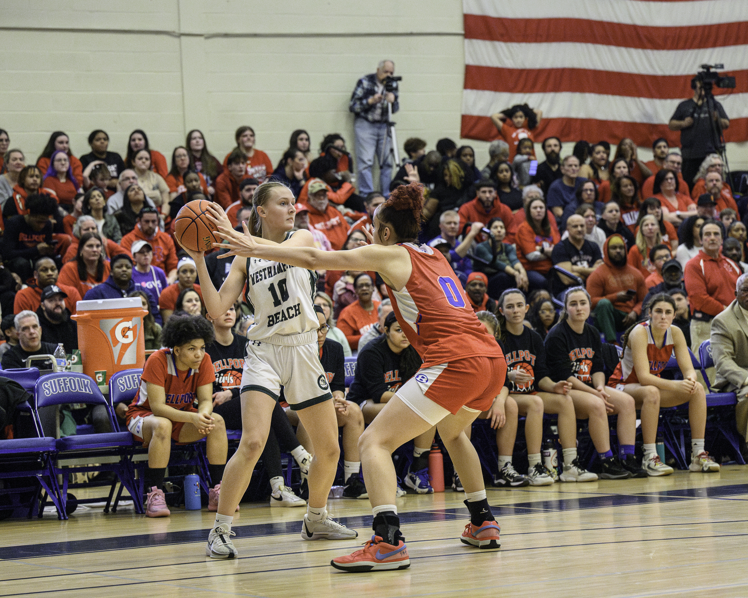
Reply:
<svg viewBox="0 0 748 598"><path fill-rule="evenodd" d="M57 372L46 374L37 380L34 386L34 413L50 405L82 403L87 405L105 405L111 422L111 429L117 430L114 413L96 383L85 374L76 372ZM60 500L65 511L67 487L70 474L74 472L114 472L117 479L126 487L132 496L135 511L144 513L141 495L136 490L130 457L133 450L132 434L129 432L111 432L108 434L82 434L60 438L57 447L55 474L62 476ZM91 463L96 463L91 465ZM111 485L114 487L113 482ZM111 494L111 490L110 490ZM99 502L100 499L82 499L79 503Z"/></svg>

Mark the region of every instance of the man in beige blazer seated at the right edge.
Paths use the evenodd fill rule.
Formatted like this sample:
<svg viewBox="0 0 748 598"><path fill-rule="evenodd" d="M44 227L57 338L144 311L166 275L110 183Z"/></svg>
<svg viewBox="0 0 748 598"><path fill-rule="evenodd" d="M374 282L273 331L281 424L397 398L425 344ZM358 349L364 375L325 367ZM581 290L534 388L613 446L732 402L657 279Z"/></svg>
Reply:
<svg viewBox="0 0 748 598"><path fill-rule="evenodd" d="M735 300L711 321L711 355L717 372L712 386L738 395L735 420L748 439L748 274L738 278Z"/></svg>

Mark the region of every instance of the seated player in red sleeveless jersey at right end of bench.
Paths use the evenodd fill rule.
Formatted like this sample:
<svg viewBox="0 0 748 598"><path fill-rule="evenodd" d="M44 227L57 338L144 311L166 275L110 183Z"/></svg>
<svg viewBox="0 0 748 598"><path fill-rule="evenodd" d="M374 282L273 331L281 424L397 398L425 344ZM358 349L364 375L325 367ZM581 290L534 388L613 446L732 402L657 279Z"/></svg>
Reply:
<svg viewBox="0 0 748 598"><path fill-rule="evenodd" d="M647 395L657 393L660 407L675 407L688 403L688 422L691 426L692 472L718 472L719 463L709 457L704 450L706 427L706 395L704 387L696 381L691 357L688 354L686 339L677 326L672 326L675 318L675 300L666 293L654 295L649 301L649 320L634 324L622 338L623 355L621 363L610 376L608 385L623 390L634 397L640 408ZM683 380L663 380L660 372L665 369L670 356L675 352L678 368ZM654 426L645 428L642 415L642 435L644 457L642 468L648 475L668 475L669 467L660 461L655 450L657 419Z"/></svg>

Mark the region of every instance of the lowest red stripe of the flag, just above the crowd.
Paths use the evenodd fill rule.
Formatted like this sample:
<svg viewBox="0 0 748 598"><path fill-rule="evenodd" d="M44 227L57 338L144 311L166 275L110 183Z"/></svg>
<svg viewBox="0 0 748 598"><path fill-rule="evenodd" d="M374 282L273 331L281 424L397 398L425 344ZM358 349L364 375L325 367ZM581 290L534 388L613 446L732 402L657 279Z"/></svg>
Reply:
<svg viewBox="0 0 748 598"><path fill-rule="evenodd" d="M499 138L494 123L489 117L462 115L460 136L464 139L494 141ZM533 131L536 142L547 137L558 137L562 141L607 141L618 144L622 138L634 140L639 147L650 147L658 137L668 140L671 147L680 146L680 133L671 131L667 125L647 123L623 123L616 120L595 120L584 118L543 119ZM744 141L748 138L748 118L730 120L730 128L725 132L726 141Z"/></svg>

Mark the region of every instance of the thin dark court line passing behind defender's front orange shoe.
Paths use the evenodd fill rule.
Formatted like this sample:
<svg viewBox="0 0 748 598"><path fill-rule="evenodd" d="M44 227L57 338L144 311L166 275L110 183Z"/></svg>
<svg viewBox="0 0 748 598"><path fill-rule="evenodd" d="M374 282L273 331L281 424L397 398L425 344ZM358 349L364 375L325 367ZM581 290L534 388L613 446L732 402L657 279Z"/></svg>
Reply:
<svg viewBox="0 0 748 598"><path fill-rule="evenodd" d="M426 559L433 559L433 558L451 558L451 557L464 557L466 555L492 555L496 552L524 552L527 550L544 550L544 549L564 549L564 548L578 548L580 546L588 547L588 546L605 546L605 545L618 545L618 544L627 544L627 543L639 543L639 542L672 542L672 541L678 541L678 540L705 540L710 538L723 538L723 537L746 537L748 534L716 534L716 535L710 535L710 536L683 536L683 537L663 537L663 538L635 538L631 540L612 540L612 541L606 541L606 542L586 542L586 543L576 543L576 544L557 544L557 545L551 545L551 546L527 546L524 548L515 548L515 549L501 549L501 550L473 550L470 548L465 548L465 550L461 550L461 552L450 552L447 554L441 554L441 555L429 555L429 556L411 556L411 561L420 561L420 560L426 560ZM142 579L133 580L132 582L126 582L123 584L109 584L106 586L102 585L93 585L93 586L84 586L79 588L67 588L67 589L54 589L54 590L43 590L43 591L35 591L35 592L23 592L22 594L0 594L0 598L10 598L13 596L28 596L29 594L51 594L51 593L62 593L62 592L71 592L71 591L82 591L82 590L96 590L96 589L110 589L110 588L123 588L126 586L131 585L146 585L146 584L165 584L165 583L171 583L171 582L188 582L191 579L213 579L213 578L220 578L220 577L226 577L226 576L245 576L245 575L256 575L258 573L278 573L281 571L295 571L295 570L310 570L310 569L320 569L322 567L329 567L328 564L321 564L321 565L306 565L303 567L281 567L278 569L265 569L265 570L256 570L256 571L230 571L227 573L218 573L215 575L199 575L199 576L193 576L193 577L177 577L173 579L157 579L157 580L149 580L144 581ZM108 579L131 579L123 576L106 576Z"/></svg>

